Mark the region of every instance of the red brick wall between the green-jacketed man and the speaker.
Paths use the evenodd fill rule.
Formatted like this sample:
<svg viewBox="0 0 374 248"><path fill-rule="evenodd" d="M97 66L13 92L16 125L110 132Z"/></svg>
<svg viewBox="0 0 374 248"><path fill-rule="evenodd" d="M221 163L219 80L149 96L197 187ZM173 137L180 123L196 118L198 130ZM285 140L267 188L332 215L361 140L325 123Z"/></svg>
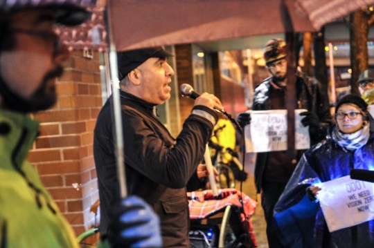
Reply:
<svg viewBox="0 0 374 248"><path fill-rule="evenodd" d="M56 84L57 104L33 115L41 122L28 159L78 235L94 224L91 204L98 200L93 156L96 117L102 106L100 59L74 52Z"/></svg>

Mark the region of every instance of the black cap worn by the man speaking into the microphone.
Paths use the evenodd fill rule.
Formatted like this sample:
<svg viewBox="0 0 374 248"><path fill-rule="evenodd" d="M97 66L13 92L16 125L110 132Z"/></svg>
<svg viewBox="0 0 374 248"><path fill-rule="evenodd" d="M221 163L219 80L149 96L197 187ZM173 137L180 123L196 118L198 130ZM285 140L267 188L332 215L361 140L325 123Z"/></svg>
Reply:
<svg viewBox="0 0 374 248"><path fill-rule="evenodd" d="M118 52L118 78L122 80L128 73L130 73L130 71L134 70L151 57L167 58L172 56L174 55L163 49L161 46Z"/></svg>

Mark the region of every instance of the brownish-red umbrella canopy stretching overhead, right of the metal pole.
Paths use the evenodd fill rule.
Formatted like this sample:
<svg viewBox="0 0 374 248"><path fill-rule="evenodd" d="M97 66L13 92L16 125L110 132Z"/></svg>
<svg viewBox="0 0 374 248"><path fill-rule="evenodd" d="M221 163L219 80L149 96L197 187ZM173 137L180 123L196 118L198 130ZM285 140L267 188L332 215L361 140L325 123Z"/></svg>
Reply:
<svg viewBox="0 0 374 248"><path fill-rule="evenodd" d="M373 0L110 0L116 50L317 31ZM290 24L285 23L285 13Z"/></svg>

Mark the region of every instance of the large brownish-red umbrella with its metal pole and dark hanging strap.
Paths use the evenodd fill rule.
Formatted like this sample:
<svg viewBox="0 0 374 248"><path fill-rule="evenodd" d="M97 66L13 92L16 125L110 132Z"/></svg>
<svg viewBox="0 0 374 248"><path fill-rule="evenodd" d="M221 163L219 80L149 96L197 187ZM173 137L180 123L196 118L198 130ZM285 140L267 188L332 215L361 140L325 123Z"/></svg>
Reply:
<svg viewBox="0 0 374 248"><path fill-rule="evenodd" d="M48 0L44 0L48 1ZM67 0L69 1L69 0ZM74 0L71 0L74 1ZM79 1L79 0L75 0ZM293 32L318 31L329 21L374 3L374 0L110 0L107 2L107 30L103 12L94 10L91 22L75 30L61 29L71 48L109 50L113 88L118 88L116 51L151 46L195 43L286 33L287 70L294 70ZM97 21L98 20L98 21ZM94 28L94 29L92 29ZM96 41L91 38L96 37ZM97 39L101 37L100 39ZM95 39L94 39L95 40ZM109 44L105 41L109 40ZM99 45L98 45L99 44ZM291 157L294 153L294 77L287 77L287 109ZM121 108L114 93L114 116L118 164L123 165ZM117 118L119 117L119 118ZM121 196L126 195L123 166L119 166ZM122 169L121 169L122 168ZM121 171L121 173L119 173ZM122 178L122 179L121 179ZM122 183L121 183L122 182Z"/></svg>

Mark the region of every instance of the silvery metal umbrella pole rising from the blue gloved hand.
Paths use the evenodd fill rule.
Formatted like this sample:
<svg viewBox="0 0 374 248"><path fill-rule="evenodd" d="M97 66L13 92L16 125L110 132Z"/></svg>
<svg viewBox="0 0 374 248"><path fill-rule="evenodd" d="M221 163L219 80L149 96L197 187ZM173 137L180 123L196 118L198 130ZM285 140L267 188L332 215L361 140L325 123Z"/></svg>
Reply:
<svg viewBox="0 0 374 248"><path fill-rule="evenodd" d="M110 4L110 1L108 2ZM109 68L112 79L112 123L114 123L114 149L116 154L117 179L120 188L121 199L127 196L126 176L125 176L125 157L123 145L123 130L122 130L122 115L121 115L121 100L119 94L119 80L117 68L117 53L116 46L113 42L112 30L110 28L110 14L107 6L107 34L109 37Z"/></svg>

